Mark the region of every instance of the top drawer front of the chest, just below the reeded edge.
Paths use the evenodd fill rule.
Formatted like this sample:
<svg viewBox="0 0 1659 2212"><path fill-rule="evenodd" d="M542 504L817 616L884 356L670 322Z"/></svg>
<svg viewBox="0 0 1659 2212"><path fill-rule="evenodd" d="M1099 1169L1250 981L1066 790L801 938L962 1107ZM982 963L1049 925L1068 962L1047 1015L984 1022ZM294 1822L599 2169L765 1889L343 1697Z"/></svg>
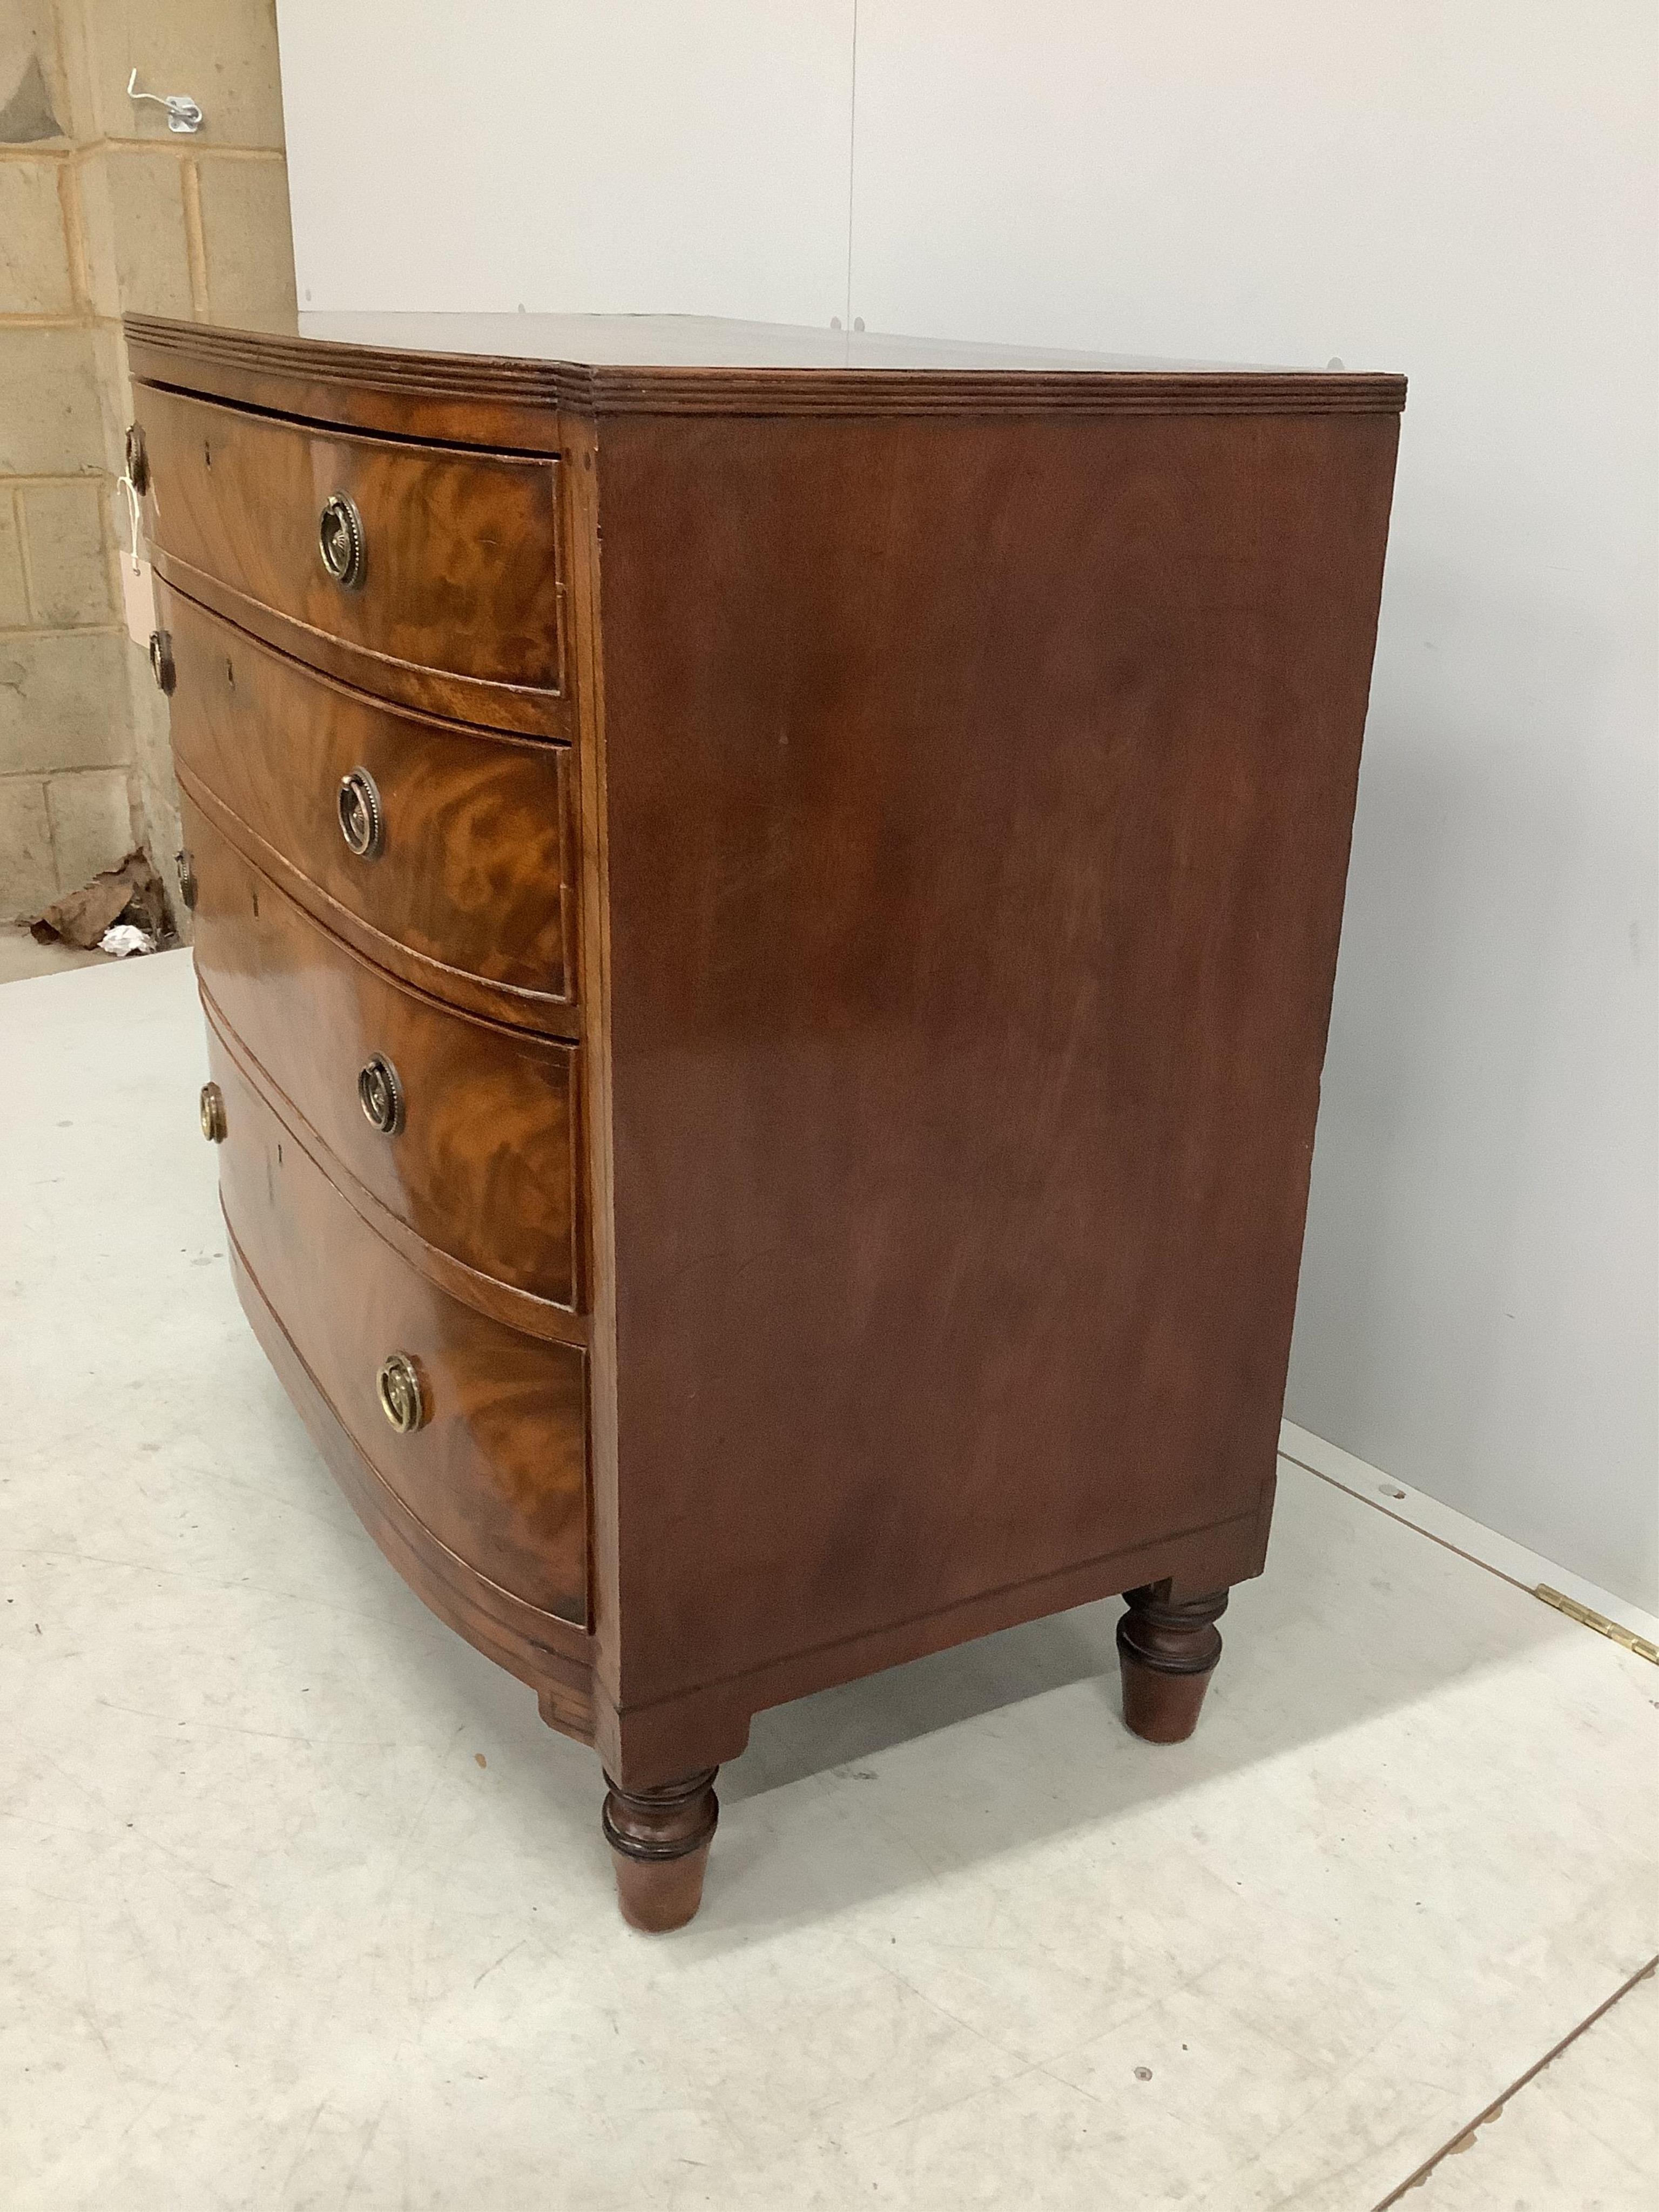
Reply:
<svg viewBox="0 0 1659 2212"><path fill-rule="evenodd" d="M157 387L137 389L137 416L148 535L173 582L363 690L502 730L557 726L557 462Z"/></svg>

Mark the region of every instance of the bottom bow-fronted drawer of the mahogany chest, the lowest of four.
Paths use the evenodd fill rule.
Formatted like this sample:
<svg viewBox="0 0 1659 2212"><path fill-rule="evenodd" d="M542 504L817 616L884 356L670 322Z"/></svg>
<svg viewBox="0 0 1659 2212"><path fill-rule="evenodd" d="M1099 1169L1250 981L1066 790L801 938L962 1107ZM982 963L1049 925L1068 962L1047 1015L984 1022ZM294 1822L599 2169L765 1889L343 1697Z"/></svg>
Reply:
<svg viewBox="0 0 1659 2212"><path fill-rule="evenodd" d="M336 1418L458 1559L513 1597L586 1619L586 1360L502 1327L405 1265L341 1197L208 1029L223 1102L230 1234ZM420 1427L378 1374L400 1354Z"/></svg>

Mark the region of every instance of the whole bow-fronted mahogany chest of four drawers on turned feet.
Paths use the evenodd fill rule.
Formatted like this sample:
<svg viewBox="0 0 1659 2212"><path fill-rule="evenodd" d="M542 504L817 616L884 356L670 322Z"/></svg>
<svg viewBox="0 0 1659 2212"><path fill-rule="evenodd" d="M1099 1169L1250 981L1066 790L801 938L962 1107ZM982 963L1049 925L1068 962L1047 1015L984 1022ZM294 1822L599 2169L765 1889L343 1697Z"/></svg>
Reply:
<svg viewBox="0 0 1659 2212"><path fill-rule="evenodd" d="M1391 376L128 321L241 1301L626 1916L807 1690L1267 1544ZM1108 1756L1108 1747L1099 1747Z"/></svg>

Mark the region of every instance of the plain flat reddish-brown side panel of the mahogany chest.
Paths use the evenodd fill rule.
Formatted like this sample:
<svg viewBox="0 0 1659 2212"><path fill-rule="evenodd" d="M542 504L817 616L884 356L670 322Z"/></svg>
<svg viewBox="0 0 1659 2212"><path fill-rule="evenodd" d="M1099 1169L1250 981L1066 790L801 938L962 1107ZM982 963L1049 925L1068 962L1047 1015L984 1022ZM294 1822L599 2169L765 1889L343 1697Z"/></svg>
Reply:
<svg viewBox="0 0 1659 2212"><path fill-rule="evenodd" d="M1254 1528L1394 447L604 425L628 1703Z"/></svg>

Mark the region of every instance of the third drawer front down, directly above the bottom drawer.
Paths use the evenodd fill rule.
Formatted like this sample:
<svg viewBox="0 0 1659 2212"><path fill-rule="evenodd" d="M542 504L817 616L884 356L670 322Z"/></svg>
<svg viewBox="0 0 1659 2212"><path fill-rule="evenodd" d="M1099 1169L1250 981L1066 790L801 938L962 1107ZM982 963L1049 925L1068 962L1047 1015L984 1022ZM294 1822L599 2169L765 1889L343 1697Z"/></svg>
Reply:
<svg viewBox="0 0 1659 2212"><path fill-rule="evenodd" d="M184 816L201 991L276 1093L425 1243L575 1310L575 1046L405 989Z"/></svg>

